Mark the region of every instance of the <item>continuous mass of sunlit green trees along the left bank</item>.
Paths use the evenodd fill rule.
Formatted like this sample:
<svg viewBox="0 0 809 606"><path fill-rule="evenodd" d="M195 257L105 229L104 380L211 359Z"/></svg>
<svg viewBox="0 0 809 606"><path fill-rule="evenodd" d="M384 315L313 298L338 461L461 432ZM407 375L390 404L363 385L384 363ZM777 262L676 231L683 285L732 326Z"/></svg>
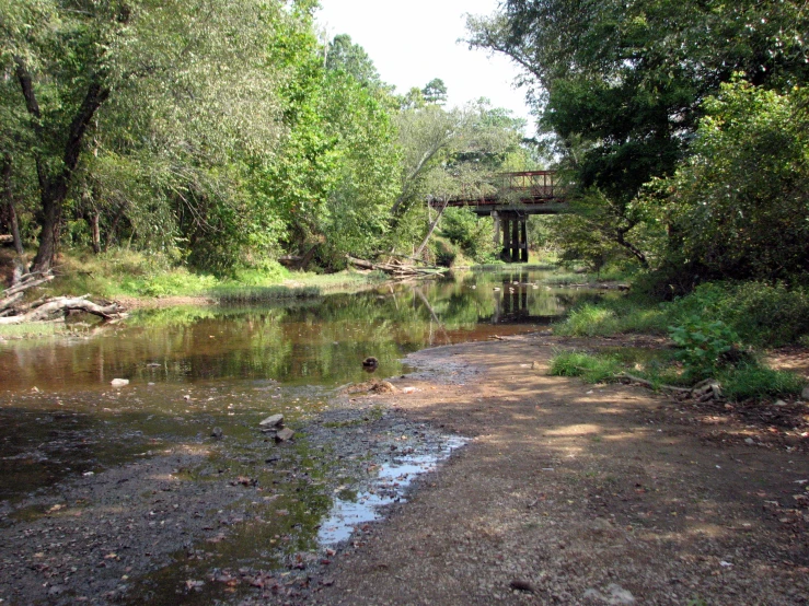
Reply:
<svg viewBox="0 0 809 606"><path fill-rule="evenodd" d="M313 0L0 4L0 224L36 246L127 246L227 273L326 269L423 241L426 201L484 186L521 125L397 96L322 42Z"/></svg>

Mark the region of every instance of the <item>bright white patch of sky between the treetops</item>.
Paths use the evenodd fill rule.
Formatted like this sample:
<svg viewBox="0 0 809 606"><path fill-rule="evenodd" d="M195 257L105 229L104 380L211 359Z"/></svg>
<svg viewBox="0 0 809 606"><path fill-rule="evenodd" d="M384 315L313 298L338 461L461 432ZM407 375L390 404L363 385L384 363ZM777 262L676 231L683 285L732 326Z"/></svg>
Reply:
<svg viewBox="0 0 809 606"><path fill-rule="evenodd" d="M522 91L512 86L517 68L505 57L470 50L465 14L492 14L497 0L320 0L317 21L328 37L348 34L370 56L384 82L406 93L434 78L447 84L449 105L482 96L515 116L533 120Z"/></svg>

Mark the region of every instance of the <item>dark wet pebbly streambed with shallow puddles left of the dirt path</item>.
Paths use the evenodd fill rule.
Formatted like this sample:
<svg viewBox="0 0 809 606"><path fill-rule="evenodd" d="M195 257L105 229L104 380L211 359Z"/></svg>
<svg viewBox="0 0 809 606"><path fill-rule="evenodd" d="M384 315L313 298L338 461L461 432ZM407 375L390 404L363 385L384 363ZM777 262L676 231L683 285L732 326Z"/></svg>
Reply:
<svg viewBox="0 0 809 606"><path fill-rule="evenodd" d="M373 394L335 395L293 420L294 436L280 443L250 416L254 427L242 432L130 436L131 450L143 450L120 464L4 501L0 603L303 598L333 582L331 559L361 544L385 505L406 500L415 478L464 443ZM82 431L65 441L63 457L71 444L82 450ZM116 439L97 427L92 436Z"/></svg>

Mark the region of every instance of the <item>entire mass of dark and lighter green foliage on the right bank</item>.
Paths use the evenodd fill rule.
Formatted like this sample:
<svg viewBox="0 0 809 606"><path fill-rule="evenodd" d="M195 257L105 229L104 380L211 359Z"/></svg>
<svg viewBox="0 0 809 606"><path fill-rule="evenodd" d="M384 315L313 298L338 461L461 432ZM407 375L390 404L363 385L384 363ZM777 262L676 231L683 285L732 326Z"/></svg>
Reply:
<svg viewBox="0 0 809 606"><path fill-rule="evenodd" d="M583 207L559 242L569 254L593 263L612 243L702 279L806 271L802 2L509 0L467 26L471 46L524 70L543 142Z"/></svg>

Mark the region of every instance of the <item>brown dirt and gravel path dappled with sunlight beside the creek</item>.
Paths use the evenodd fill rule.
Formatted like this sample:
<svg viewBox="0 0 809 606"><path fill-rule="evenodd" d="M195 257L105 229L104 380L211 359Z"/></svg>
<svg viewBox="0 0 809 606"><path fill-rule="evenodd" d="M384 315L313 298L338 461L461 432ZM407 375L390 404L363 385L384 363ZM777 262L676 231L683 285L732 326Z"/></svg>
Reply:
<svg viewBox="0 0 809 606"><path fill-rule="evenodd" d="M390 401L473 440L359 532L307 604L809 603L809 440L547 376L551 342L413 357L421 381L400 386L420 391Z"/></svg>

